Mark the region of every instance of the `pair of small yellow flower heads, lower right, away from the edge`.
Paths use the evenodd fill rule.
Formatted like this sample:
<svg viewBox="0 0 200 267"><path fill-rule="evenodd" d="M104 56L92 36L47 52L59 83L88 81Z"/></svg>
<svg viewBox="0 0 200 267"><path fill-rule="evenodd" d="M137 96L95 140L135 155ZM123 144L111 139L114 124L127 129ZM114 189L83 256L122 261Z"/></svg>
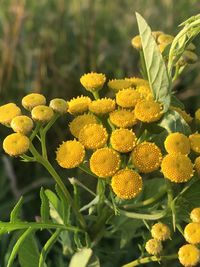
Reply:
<svg viewBox="0 0 200 267"><path fill-rule="evenodd" d="M163 249L162 241L170 238L170 228L164 223L156 223L151 228L151 235L153 238L146 242L145 249L149 254L158 256Z"/></svg>

